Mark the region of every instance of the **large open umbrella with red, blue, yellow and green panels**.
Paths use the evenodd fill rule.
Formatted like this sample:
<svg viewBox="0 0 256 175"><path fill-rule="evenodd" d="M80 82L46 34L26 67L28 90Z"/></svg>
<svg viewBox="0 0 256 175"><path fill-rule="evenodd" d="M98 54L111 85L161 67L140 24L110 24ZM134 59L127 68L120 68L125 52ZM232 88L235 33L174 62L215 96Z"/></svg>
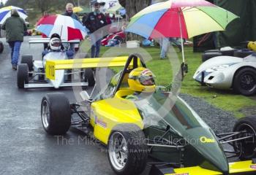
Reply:
<svg viewBox="0 0 256 175"><path fill-rule="evenodd" d="M192 38L212 31L224 31L238 18L232 12L204 0L169 0L153 4L131 18L126 31L145 38ZM182 39L181 39L182 41ZM184 61L184 48L182 58Z"/></svg>

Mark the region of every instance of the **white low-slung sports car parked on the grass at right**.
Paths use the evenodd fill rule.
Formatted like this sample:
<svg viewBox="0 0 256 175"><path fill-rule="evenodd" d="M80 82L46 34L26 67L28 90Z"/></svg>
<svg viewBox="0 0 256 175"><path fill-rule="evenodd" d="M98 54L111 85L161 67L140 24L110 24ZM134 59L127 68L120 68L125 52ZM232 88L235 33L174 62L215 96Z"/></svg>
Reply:
<svg viewBox="0 0 256 175"><path fill-rule="evenodd" d="M193 78L201 85L233 89L244 96L252 96L256 93L256 52L246 58L211 58L199 66Z"/></svg>

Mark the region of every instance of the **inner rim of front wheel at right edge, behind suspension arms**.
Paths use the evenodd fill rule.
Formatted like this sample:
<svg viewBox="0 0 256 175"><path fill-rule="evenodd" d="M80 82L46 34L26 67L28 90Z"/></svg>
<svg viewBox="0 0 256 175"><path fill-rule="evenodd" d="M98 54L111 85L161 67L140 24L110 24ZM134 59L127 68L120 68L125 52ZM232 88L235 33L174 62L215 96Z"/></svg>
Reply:
<svg viewBox="0 0 256 175"><path fill-rule="evenodd" d="M252 128L252 126L244 123L240 125L237 129L237 131L246 131L245 133L241 133L239 137L245 137L245 136L256 136L256 131ZM236 148L241 152L242 156L244 158L252 158L255 155L255 137L252 137L250 139L245 139L241 141L237 141Z"/></svg>

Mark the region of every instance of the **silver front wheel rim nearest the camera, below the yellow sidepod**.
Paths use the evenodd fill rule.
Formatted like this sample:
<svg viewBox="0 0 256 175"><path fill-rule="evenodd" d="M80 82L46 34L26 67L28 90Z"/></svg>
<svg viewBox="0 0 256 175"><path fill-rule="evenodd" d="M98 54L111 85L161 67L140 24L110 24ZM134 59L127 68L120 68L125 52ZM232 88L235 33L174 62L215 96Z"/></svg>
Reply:
<svg viewBox="0 0 256 175"><path fill-rule="evenodd" d="M121 133L115 132L111 135L108 145L108 154L113 168L118 171L124 168L127 163L128 148L127 141Z"/></svg>

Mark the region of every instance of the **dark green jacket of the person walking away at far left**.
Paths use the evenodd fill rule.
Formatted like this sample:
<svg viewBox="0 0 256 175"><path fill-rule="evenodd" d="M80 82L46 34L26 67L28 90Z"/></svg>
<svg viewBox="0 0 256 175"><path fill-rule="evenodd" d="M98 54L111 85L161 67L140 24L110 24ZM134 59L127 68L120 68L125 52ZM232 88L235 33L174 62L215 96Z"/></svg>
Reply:
<svg viewBox="0 0 256 175"><path fill-rule="evenodd" d="M23 42L24 32L27 30L25 21L18 12L14 12L1 26L6 31L7 42Z"/></svg>

